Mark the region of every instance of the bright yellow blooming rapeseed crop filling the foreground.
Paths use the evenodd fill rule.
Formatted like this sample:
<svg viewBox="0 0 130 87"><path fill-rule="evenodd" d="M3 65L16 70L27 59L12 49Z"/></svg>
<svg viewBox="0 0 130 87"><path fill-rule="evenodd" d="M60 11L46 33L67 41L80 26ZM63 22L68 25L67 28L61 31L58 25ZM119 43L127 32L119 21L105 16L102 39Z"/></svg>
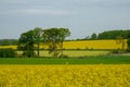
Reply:
<svg viewBox="0 0 130 87"><path fill-rule="evenodd" d="M130 87L130 65L0 65L0 87Z"/></svg>

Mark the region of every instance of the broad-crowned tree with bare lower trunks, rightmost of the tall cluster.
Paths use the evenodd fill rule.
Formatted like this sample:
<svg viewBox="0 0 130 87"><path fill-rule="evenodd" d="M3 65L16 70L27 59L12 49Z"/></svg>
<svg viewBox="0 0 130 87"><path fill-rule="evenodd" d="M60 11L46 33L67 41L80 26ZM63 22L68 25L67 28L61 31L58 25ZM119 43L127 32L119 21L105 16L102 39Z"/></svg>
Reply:
<svg viewBox="0 0 130 87"><path fill-rule="evenodd" d="M70 35L68 28L49 28L43 30L43 37L46 41L49 41L50 52L53 52L54 57L57 57L57 46L62 48L63 41Z"/></svg>

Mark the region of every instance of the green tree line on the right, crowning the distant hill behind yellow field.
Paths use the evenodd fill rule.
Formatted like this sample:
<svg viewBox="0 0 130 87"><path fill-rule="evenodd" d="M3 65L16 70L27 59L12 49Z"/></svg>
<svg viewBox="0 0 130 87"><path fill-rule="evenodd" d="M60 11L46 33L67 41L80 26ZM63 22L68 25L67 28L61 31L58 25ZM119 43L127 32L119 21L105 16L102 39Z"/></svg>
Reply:
<svg viewBox="0 0 130 87"><path fill-rule="evenodd" d="M106 32L100 33L99 35L96 33L93 33L91 36L87 36L82 39L76 39L76 40L99 40L99 39L115 39L116 41L118 41L118 44L121 44L121 46L122 46L121 51L125 51L125 39L128 39L127 40L127 45L128 45L127 51L130 52L130 29L106 30Z"/></svg>

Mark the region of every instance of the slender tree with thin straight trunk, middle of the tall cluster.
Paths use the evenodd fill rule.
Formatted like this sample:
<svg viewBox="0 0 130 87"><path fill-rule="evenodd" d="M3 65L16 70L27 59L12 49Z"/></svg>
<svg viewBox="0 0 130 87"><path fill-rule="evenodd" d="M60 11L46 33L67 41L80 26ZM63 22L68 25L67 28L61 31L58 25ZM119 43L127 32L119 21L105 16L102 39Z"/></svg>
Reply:
<svg viewBox="0 0 130 87"><path fill-rule="evenodd" d="M42 40L42 28L40 27L36 27L34 29L34 41L35 44L37 44L37 53L39 57L39 49L40 49L40 42Z"/></svg>

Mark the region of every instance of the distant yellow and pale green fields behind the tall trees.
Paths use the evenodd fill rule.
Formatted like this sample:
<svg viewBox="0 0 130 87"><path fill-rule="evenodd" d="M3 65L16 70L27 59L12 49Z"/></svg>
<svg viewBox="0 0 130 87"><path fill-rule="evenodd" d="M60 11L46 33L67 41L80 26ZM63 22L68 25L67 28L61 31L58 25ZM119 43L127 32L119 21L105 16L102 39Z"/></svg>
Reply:
<svg viewBox="0 0 130 87"><path fill-rule="evenodd" d="M37 45L35 45L37 47ZM125 40L125 49L127 49L127 40ZM16 46L0 46L0 48L17 49ZM52 57L48 52L48 44L40 44L40 57ZM122 49L122 45L115 39L110 40L82 40L82 41L64 41L64 55L66 57L93 57L109 54L109 50ZM22 54L21 51L17 51Z"/></svg>

